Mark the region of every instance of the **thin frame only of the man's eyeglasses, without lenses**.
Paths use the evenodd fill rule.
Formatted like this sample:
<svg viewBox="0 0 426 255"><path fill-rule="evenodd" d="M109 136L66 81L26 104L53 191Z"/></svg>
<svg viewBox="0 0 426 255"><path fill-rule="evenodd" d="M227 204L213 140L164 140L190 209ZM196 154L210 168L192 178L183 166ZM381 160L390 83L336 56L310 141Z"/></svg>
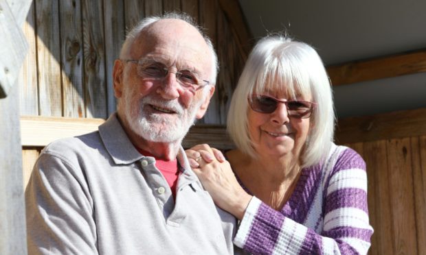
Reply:
<svg viewBox="0 0 426 255"><path fill-rule="evenodd" d="M188 89L190 89L190 88L192 88L193 90L199 90L200 88L203 88L203 87L205 87L205 86L208 86L208 85L210 85L210 82L208 81L208 80L203 80L203 79L200 79L199 78L199 76L197 75L197 74L195 74L194 72L192 72L192 71L190 71L190 70L188 70L188 69L183 69L183 70L180 70L180 71L175 71L175 72L170 72L170 67L164 67L164 70L166 71L166 74L164 75L164 77L144 77L143 75L141 75L141 73L139 73L139 68L141 68L143 65L144 65L144 63L145 62L148 62L148 61L150 61L150 62L152 62L152 64L162 64L162 65L164 65L164 66L166 66L166 64L164 64L164 63L162 63L162 62L158 62L158 61L155 61L155 60L151 60L151 59L149 59L149 58L141 58L141 59L139 59L139 60L129 60L129 59L122 59L122 61L124 61L124 62L131 62L131 63L133 63L133 64L137 64L137 75L139 75L139 77L141 77L142 79L152 79L152 80L164 80L164 79L166 79L166 77L167 77L167 75L169 74L169 73L175 73L175 76L176 76L176 80L177 80L177 82L179 83L179 84L181 84L181 86L183 86L183 88L188 88ZM197 81L202 81L202 82L205 82L205 84L191 84L191 85L186 85L186 84L183 84L183 82L181 82L181 80L179 80L179 77L181 77L181 75L183 75L183 71L188 71L188 72L190 72L191 73L191 75L193 76L193 77L195 77L195 79L197 80ZM142 72L142 71L141 71Z"/></svg>

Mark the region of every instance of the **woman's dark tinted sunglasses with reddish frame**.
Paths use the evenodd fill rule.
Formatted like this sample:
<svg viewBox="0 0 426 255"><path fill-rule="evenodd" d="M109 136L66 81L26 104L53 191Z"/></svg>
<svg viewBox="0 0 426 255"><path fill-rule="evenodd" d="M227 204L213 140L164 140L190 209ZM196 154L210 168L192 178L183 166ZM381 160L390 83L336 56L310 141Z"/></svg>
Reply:
<svg viewBox="0 0 426 255"><path fill-rule="evenodd" d="M306 119L311 117L316 104L310 101L293 100L282 101L267 95L252 95L248 98L252 110L260 113L272 113L278 108L278 104L285 104L289 117Z"/></svg>

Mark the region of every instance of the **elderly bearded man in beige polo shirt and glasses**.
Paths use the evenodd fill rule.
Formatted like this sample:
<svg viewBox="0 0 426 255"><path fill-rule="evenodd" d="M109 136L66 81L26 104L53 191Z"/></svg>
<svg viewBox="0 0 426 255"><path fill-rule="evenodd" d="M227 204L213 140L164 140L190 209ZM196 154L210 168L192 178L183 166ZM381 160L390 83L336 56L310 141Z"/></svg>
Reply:
<svg viewBox="0 0 426 255"><path fill-rule="evenodd" d="M30 254L232 254L181 147L214 92L217 58L188 17L144 19L115 61L117 113L48 145L25 191Z"/></svg>

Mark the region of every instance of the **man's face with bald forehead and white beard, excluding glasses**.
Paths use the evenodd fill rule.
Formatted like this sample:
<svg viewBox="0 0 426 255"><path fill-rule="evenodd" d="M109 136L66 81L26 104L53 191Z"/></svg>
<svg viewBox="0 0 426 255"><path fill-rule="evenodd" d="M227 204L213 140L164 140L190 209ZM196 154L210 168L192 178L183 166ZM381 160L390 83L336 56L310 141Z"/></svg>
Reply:
<svg viewBox="0 0 426 255"><path fill-rule="evenodd" d="M133 42L129 58L159 62L170 72L163 80L144 79L136 63L116 62L120 77L115 77L114 88L120 98L120 117L131 132L147 141L181 141L195 119L203 117L214 91L213 86L190 90L175 75L175 71L191 70L210 80L212 57L203 37L183 21L157 21Z"/></svg>

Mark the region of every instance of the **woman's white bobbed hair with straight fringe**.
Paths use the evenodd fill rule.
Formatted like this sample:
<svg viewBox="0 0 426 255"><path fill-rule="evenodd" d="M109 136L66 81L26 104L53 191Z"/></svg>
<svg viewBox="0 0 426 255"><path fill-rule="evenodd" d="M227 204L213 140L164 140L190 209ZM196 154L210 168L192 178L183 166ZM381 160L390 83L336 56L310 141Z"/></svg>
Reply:
<svg viewBox="0 0 426 255"><path fill-rule="evenodd" d="M252 158L256 151L248 131L247 99L266 90L284 91L291 99L311 96L317 103L300 164L320 162L333 143L335 112L330 80L315 49L284 36L267 36L251 51L232 96L227 131L238 149Z"/></svg>

